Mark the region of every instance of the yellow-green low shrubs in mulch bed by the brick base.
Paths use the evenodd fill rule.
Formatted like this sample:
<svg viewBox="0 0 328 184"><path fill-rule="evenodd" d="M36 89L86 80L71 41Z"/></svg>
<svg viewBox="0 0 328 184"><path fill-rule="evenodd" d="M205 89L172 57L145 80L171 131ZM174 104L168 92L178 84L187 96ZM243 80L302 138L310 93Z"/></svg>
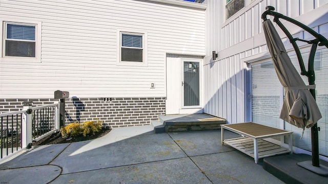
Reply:
<svg viewBox="0 0 328 184"><path fill-rule="evenodd" d="M83 136L94 135L103 128L104 121L86 121L82 124L79 122L70 123L69 125L60 128L61 136L63 137L74 137L80 134Z"/></svg>

